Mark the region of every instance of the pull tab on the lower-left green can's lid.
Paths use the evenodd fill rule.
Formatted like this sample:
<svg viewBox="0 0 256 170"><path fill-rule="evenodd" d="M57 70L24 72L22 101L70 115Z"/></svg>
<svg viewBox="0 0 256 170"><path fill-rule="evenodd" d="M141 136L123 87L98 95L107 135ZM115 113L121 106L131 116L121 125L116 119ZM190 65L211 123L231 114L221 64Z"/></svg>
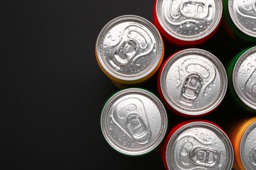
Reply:
<svg viewBox="0 0 256 170"><path fill-rule="evenodd" d="M125 120L125 125L128 127L131 137L137 143L147 143L150 139L150 129L146 126L141 116L138 113L131 113Z"/></svg>

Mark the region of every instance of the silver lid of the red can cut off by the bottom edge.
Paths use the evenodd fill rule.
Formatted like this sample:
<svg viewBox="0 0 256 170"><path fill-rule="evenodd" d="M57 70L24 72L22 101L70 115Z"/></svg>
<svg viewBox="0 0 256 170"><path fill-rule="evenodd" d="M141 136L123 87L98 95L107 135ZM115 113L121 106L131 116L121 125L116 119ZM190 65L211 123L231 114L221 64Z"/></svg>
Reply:
<svg viewBox="0 0 256 170"><path fill-rule="evenodd" d="M225 133L207 122L192 122L175 131L167 143L169 169L232 169L234 152Z"/></svg>

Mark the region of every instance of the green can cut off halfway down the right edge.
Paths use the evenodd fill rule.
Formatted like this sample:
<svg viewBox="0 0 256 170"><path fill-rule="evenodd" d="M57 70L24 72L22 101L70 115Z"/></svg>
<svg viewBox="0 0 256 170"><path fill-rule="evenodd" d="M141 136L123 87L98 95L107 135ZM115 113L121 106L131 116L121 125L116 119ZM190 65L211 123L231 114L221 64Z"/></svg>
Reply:
<svg viewBox="0 0 256 170"><path fill-rule="evenodd" d="M256 46L241 50L228 64L228 90L245 110L256 112Z"/></svg>

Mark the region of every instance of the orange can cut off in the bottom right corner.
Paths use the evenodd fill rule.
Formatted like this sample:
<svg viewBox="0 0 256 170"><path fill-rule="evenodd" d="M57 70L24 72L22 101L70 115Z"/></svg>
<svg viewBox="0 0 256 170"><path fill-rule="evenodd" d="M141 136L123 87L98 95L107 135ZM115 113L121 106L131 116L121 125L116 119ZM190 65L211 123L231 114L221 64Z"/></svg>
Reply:
<svg viewBox="0 0 256 170"><path fill-rule="evenodd" d="M256 117L242 117L226 131L234 148L234 169L256 169Z"/></svg>

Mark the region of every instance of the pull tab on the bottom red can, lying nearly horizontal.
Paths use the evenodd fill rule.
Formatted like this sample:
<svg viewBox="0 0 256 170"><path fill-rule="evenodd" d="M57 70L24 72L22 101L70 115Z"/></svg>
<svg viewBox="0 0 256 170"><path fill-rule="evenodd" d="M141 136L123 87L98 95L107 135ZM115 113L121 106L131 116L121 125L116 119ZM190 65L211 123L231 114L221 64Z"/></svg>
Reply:
<svg viewBox="0 0 256 170"><path fill-rule="evenodd" d="M192 162L196 165L215 167L215 165L219 163L220 155L217 150L198 146L191 150L190 158Z"/></svg>

